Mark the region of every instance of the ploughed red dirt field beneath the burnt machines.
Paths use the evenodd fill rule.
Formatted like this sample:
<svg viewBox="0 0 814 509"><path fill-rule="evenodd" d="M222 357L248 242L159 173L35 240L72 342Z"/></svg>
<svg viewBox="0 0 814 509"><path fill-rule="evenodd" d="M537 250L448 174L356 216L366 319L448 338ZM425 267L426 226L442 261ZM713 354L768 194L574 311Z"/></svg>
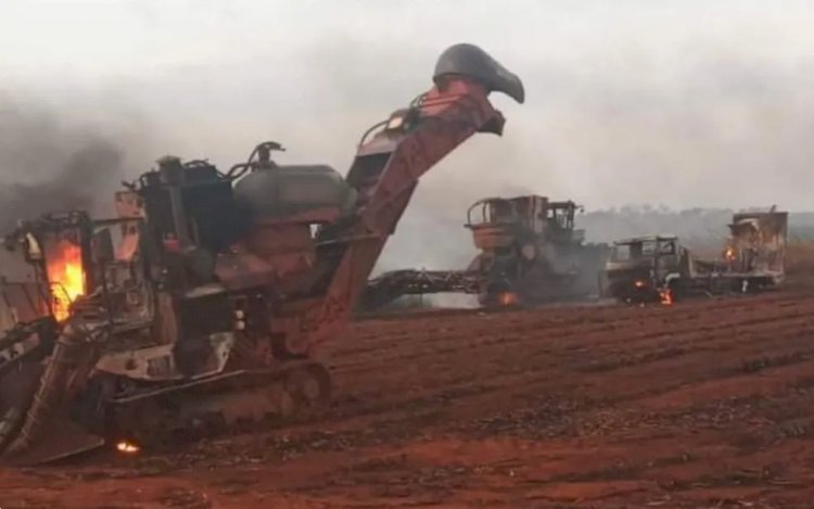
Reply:
<svg viewBox="0 0 814 509"><path fill-rule="evenodd" d="M814 291L415 314L328 348L308 422L0 470L0 507L814 507Z"/></svg>

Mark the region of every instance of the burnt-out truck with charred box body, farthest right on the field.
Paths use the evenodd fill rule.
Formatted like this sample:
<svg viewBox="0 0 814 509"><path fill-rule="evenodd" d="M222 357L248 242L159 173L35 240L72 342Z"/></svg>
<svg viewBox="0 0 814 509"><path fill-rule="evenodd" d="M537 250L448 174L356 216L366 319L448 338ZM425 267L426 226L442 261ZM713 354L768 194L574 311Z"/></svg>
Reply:
<svg viewBox="0 0 814 509"><path fill-rule="evenodd" d="M600 285L626 303L672 304L698 295L748 293L779 285L786 275L788 213L739 213L728 225L721 256L701 259L676 236L659 234L613 243Z"/></svg>

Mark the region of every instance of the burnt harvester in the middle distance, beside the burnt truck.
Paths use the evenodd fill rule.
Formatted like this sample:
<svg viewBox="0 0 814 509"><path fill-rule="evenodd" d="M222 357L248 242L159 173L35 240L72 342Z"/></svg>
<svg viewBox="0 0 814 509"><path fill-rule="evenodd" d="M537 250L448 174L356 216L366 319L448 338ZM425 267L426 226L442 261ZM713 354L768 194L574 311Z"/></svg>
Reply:
<svg viewBox="0 0 814 509"><path fill-rule="evenodd" d="M545 196L491 198L475 202L466 227L480 253L466 270L397 270L372 279L363 304L376 308L405 294L476 294L481 305L536 304L599 293L610 252L586 244L574 227L581 207Z"/></svg>

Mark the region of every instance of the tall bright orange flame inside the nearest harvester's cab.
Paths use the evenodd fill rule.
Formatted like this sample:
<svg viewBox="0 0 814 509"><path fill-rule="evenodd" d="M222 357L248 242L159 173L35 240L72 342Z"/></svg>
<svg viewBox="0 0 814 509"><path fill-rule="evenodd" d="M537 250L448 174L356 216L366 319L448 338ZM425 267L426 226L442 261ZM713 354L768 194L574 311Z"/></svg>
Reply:
<svg viewBox="0 0 814 509"><path fill-rule="evenodd" d="M60 240L47 257L48 282L53 295L53 314L59 321L68 318L71 303L85 293L81 249Z"/></svg>

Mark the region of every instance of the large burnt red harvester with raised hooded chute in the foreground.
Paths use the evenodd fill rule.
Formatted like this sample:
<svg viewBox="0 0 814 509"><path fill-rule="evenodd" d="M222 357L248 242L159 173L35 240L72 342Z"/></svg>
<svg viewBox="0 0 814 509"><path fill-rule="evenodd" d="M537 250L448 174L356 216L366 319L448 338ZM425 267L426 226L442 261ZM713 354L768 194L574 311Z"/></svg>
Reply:
<svg viewBox="0 0 814 509"><path fill-rule="evenodd" d="M471 44L433 79L366 132L344 178L279 165L266 142L227 171L165 157L116 194L112 219L21 222L7 245L47 298L0 336L3 459L132 451L323 402L315 349L348 321L419 177L475 132L503 133L489 92L524 100Z"/></svg>

